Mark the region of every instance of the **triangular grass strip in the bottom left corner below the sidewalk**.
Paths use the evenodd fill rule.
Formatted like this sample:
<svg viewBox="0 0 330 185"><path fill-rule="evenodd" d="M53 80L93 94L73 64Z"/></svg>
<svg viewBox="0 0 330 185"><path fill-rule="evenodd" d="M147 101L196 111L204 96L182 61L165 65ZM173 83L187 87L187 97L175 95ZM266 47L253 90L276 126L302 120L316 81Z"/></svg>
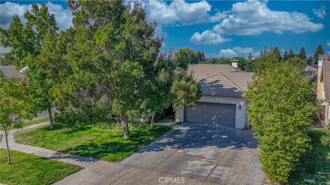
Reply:
<svg viewBox="0 0 330 185"><path fill-rule="evenodd" d="M4 184L52 184L81 169L19 151L10 151L10 156L12 164L7 164L7 151L0 149L0 182Z"/></svg>

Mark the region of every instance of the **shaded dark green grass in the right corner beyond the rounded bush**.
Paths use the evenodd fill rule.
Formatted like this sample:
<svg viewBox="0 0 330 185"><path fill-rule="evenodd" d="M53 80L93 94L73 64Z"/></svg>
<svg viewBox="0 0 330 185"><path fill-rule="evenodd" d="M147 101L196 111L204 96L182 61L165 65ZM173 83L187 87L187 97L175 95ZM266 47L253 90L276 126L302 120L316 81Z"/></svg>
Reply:
<svg viewBox="0 0 330 185"><path fill-rule="evenodd" d="M311 149L300 160L300 165L292 173L288 184L310 184L307 180L314 180L315 184L330 184L330 147L320 143L324 132L311 130Z"/></svg>

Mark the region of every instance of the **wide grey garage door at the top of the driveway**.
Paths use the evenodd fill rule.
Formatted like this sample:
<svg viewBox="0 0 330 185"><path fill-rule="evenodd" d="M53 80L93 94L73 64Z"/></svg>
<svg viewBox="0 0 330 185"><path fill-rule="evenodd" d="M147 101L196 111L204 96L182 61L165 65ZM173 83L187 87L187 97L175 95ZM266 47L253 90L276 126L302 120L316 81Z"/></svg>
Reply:
<svg viewBox="0 0 330 185"><path fill-rule="evenodd" d="M185 108L185 121L235 127L236 105L197 102Z"/></svg>

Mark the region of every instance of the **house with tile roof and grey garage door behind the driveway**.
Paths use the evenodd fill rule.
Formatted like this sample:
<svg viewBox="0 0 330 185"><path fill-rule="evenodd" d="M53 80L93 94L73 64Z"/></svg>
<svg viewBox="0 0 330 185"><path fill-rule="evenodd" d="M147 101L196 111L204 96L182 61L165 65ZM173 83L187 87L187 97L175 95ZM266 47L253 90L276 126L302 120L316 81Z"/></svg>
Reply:
<svg viewBox="0 0 330 185"><path fill-rule="evenodd" d="M189 71L201 85L202 97L195 106L177 110L181 122L206 123L245 129L250 127L244 93L253 73L237 69L238 61L228 64L192 64Z"/></svg>

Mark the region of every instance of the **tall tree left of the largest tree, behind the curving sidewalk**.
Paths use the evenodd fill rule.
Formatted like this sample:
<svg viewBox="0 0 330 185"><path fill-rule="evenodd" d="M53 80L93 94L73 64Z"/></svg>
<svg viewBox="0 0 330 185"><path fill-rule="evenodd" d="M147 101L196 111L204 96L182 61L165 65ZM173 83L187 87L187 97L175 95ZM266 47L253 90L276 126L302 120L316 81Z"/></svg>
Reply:
<svg viewBox="0 0 330 185"><path fill-rule="evenodd" d="M0 29L0 42L4 47L10 47L10 52L5 53L5 58L11 60L17 67L27 66L25 78L27 79L27 88L34 98L34 108L32 112L41 112L48 110L50 116L50 127L53 126L52 119L52 95L50 88L54 85L54 79L47 76L45 68L39 64L43 60L41 53L44 50L46 37L50 33L56 34L58 27L56 25L54 14L48 12L48 8L43 3L33 4L32 10L25 12L25 25L21 23L18 16L14 16L8 29ZM45 53L43 56L47 56ZM57 62L52 60L52 62Z"/></svg>

